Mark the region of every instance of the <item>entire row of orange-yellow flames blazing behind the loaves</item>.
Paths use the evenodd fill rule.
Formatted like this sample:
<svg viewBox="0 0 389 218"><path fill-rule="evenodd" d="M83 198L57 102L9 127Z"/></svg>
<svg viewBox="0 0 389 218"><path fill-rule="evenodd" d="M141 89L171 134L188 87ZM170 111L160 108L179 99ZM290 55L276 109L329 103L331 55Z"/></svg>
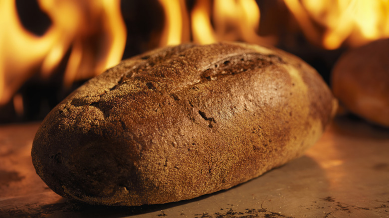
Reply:
<svg viewBox="0 0 389 218"><path fill-rule="evenodd" d="M259 35L264 19L255 0L195 0L191 6L186 0L158 1L165 13L159 46L190 41L245 41L276 46L281 34L285 34ZM285 17L295 17L309 42L326 49L359 46L389 37L389 0L277 2L289 9ZM35 72L42 79L50 77L69 54L63 78L64 87L69 87L76 80L89 79L117 64L126 43L120 0L38 3L51 19L51 26L42 36L24 29L15 0L0 0L0 106L12 102L18 114L23 113L23 97L16 92ZM283 22L285 29L294 25L294 19Z"/></svg>

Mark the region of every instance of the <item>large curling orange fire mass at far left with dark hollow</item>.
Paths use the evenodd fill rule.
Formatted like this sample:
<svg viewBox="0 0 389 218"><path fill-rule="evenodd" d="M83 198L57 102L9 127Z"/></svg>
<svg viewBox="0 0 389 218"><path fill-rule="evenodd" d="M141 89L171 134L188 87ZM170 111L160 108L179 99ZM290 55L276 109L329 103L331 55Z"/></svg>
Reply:
<svg viewBox="0 0 389 218"><path fill-rule="evenodd" d="M15 0L0 1L0 105L12 98L34 70L48 77L69 50L65 86L93 77L122 58L126 29L119 0L38 2L52 22L41 37L24 29Z"/></svg>

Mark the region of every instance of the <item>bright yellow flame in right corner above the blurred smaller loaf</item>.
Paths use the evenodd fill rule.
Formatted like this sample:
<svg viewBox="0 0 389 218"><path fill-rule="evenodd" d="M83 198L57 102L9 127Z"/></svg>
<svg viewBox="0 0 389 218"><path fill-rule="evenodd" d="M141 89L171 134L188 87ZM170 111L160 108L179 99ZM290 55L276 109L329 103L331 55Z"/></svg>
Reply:
<svg viewBox="0 0 389 218"><path fill-rule="evenodd" d="M389 37L389 0L284 0L306 37L326 49ZM324 32L315 27L319 24Z"/></svg>

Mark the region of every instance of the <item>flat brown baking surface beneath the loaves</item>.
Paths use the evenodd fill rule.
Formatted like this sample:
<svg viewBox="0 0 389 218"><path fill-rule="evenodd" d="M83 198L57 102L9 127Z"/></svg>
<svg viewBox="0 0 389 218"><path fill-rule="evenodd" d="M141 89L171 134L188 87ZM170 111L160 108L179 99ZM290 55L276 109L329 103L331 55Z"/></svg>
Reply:
<svg viewBox="0 0 389 218"><path fill-rule="evenodd" d="M389 217L389 129L338 117L306 155L229 190L140 207L64 199L35 174L39 123L0 125L0 217Z"/></svg>

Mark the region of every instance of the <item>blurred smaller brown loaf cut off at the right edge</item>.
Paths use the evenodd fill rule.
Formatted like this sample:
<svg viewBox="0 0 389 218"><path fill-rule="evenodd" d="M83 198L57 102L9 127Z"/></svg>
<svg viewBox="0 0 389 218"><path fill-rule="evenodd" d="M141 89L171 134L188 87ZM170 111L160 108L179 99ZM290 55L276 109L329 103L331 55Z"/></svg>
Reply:
<svg viewBox="0 0 389 218"><path fill-rule="evenodd" d="M389 38L342 55L331 82L334 95L346 109L389 127Z"/></svg>

